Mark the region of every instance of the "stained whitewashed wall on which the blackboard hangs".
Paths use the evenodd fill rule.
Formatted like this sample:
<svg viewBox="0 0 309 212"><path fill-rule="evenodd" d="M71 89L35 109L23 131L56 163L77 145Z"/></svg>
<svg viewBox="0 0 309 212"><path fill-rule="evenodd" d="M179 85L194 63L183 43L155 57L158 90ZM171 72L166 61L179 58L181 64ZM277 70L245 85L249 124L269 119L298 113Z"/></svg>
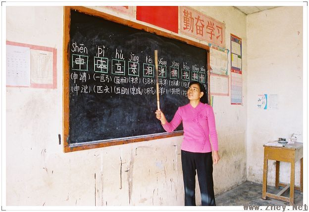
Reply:
<svg viewBox="0 0 309 212"><path fill-rule="evenodd" d="M231 6L193 8L225 23L226 48L230 33L243 44L243 105L231 105L230 96L213 100L221 156L213 170L218 195L247 174L246 15ZM6 7L7 41L57 49L56 89L6 87L6 205L183 206L182 136L63 153L62 39L62 6Z"/></svg>

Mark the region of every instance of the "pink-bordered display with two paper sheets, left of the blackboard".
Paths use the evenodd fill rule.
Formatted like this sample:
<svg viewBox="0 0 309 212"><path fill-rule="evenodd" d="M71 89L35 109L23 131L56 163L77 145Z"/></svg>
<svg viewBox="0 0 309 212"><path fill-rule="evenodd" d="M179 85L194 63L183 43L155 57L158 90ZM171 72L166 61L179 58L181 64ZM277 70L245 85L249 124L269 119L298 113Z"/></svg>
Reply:
<svg viewBox="0 0 309 212"><path fill-rule="evenodd" d="M57 87L57 49L6 41L6 85Z"/></svg>

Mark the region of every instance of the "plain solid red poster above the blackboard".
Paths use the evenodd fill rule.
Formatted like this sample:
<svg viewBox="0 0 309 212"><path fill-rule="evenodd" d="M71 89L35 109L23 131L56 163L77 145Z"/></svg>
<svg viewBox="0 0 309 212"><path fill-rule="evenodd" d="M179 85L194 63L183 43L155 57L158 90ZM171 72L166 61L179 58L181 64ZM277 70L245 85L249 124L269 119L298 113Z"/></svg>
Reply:
<svg viewBox="0 0 309 212"><path fill-rule="evenodd" d="M136 6L136 20L178 33L178 6Z"/></svg>

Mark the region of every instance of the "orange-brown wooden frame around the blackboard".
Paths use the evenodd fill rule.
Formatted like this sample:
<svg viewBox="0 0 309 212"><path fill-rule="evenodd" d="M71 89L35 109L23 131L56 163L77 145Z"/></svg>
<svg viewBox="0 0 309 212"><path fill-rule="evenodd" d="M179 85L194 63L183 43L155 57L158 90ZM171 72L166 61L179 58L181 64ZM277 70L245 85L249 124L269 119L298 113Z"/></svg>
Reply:
<svg viewBox="0 0 309 212"><path fill-rule="evenodd" d="M115 23L123 24L125 26L129 26L135 29L143 30L146 32L153 33L155 35L163 36L166 38L171 38L175 40L179 40L181 42L185 42L190 45L194 45L197 47L201 47L206 49L207 51L207 90L208 90L208 100L209 100L209 46L200 42L195 42L186 38L179 37L177 35L173 35L171 33L166 33L160 31L158 29L142 25L130 20L126 20L123 18L119 18L104 12L100 12L94 9L90 9L83 6L64 6L63 8L63 151L64 152L73 152L79 150L86 150L86 149L94 149L94 148L101 148L113 145L121 145L127 143L134 143L140 141L150 141L154 139L160 138L167 138L173 136L180 136L183 135L183 131L172 132L172 133L159 133L154 135L144 135L144 136L137 136L134 138L128 139L113 139L108 142L87 142L82 144L69 144L69 43L70 43L70 23L71 23L71 10L75 10L81 13L85 13L88 15L93 15L96 17L100 17Z"/></svg>

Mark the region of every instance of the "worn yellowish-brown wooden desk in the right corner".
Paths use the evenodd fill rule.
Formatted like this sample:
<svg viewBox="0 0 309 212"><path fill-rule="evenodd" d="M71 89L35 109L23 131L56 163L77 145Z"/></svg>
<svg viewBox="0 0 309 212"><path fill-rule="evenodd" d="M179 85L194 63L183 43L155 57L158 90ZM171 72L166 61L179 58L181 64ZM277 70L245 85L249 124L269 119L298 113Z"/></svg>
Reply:
<svg viewBox="0 0 309 212"><path fill-rule="evenodd" d="M290 202L290 206L294 205L294 189L303 192L303 143L296 142L294 144L286 144L285 147L266 146L264 147L264 168L263 168L263 191L262 199L266 197L274 198ZM268 160L276 161L276 188L284 187L278 194L271 194L266 192L267 188L267 163ZM295 162L301 160L301 185L294 186L295 181ZM291 178L290 184L279 182L279 167L280 161L291 163ZM290 188L290 198L281 196L288 188Z"/></svg>

